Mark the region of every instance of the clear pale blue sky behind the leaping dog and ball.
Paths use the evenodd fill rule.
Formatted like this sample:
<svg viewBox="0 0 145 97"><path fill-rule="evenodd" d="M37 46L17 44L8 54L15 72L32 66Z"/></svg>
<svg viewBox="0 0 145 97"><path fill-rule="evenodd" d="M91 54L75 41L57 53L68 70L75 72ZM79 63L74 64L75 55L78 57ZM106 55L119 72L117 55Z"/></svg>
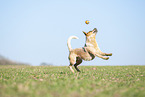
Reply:
<svg viewBox="0 0 145 97"><path fill-rule="evenodd" d="M82 47L82 31L93 28L100 49L113 56L81 65L145 65L144 0L0 1L0 55L14 61L68 66L68 37Z"/></svg>

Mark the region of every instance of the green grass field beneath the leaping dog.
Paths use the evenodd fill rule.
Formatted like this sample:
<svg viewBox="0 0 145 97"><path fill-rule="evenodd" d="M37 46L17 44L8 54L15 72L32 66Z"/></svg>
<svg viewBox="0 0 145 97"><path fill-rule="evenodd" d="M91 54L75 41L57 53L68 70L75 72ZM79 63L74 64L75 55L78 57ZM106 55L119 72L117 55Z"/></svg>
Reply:
<svg viewBox="0 0 145 97"><path fill-rule="evenodd" d="M0 66L0 97L145 97L145 66Z"/></svg>

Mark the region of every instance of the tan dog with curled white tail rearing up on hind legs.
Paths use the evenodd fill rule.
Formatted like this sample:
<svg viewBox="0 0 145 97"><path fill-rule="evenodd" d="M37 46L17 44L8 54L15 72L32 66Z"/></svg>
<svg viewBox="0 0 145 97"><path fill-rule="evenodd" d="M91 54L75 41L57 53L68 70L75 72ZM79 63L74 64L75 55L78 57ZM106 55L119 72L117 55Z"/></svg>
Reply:
<svg viewBox="0 0 145 97"><path fill-rule="evenodd" d="M104 60L108 60L109 57L104 57L104 56L112 56L112 53L103 53L96 42L96 33L97 29L94 28L92 31L89 31L88 33L83 32L86 36L86 44L82 48L76 48L72 49L71 47L71 39L78 39L76 36L71 36L68 38L67 41L67 46L69 49L69 61L70 65L69 68L70 70L74 73L74 70L72 69L72 66L74 65L75 69L80 72L80 70L77 68L79 64L82 63L82 59L85 61L90 61L93 60L96 56L99 58L102 58Z"/></svg>

